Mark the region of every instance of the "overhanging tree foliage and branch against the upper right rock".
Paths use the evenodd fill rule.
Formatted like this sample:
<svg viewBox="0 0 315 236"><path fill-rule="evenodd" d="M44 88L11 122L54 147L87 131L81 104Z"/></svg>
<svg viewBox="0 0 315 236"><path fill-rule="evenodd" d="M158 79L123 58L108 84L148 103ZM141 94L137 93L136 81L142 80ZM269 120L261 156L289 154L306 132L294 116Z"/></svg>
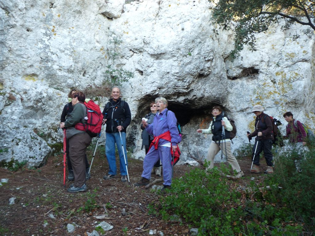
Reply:
<svg viewBox="0 0 315 236"><path fill-rule="evenodd" d="M271 24L278 22L280 17L288 23L309 25L315 30L314 0L209 0L215 4L214 19L224 29L235 27L234 50L237 52L248 44L255 50L255 34L264 32Z"/></svg>

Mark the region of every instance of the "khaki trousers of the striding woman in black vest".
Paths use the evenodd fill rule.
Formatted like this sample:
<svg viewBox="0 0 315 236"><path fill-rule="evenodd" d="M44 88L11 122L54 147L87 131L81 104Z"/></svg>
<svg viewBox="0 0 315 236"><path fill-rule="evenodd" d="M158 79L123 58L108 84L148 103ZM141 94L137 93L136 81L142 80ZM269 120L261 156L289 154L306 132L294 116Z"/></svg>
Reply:
<svg viewBox="0 0 315 236"><path fill-rule="evenodd" d="M214 165L215 155L222 150L223 154L226 156L227 161L232 166L232 170L236 170L237 172L241 171L241 168L238 165L238 162L235 156L231 152L231 142L227 141L224 143L220 143L220 146L217 143L211 142L207 154L207 161L210 162L208 169L212 169Z"/></svg>

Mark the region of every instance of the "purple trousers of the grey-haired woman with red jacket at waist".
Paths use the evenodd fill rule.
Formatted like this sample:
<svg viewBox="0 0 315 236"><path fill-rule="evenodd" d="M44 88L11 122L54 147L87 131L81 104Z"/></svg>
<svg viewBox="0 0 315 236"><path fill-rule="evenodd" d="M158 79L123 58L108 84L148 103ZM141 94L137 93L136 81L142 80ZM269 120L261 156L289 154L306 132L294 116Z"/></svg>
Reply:
<svg viewBox="0 0 315 236"><path fill-rule="evenodd" d="M171 185L172 183L172 155L171 148L159 146L157 149L154 149L154 146L151 147L149 152L146 154L143 160L143 172L141 177L146 179L151 179L151 171L154 164L161 159L163 166L163 180L164 185Z"/></svg>

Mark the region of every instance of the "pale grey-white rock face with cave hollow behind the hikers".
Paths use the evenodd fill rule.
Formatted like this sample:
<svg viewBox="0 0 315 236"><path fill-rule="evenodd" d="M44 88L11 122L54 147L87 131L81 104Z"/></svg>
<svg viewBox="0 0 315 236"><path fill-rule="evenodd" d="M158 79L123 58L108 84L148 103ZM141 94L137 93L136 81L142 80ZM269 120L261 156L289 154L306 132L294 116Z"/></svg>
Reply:
<svg viewBox="0 0 315 236"><path fill-rule="evenodd" d="M67 93L90 88L104 106L108 65L134 74L122 83L122 95L133 119L128 150L138 159L144 158L140 119L158 96L181 123L181 163L205 157L211 137L196 130L208 128L217 104L236 121L233 149L254 129L249 110L255 104L277 118L291 111L313 129L314 38L307 26L286 30L284 24L259 34L256 51L245 48L230 61L232 31L211 21L207 0L3 0L0 161L39 166L60 149L57 127Z"/></svg>

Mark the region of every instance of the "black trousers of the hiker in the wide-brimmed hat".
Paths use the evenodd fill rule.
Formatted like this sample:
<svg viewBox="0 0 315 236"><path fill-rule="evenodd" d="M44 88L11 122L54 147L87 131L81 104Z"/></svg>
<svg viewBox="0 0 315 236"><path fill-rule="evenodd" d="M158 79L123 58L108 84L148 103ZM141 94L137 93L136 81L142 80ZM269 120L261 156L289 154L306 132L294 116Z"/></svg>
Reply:
<svg viewBox="0 0 315 236"><path fill-rule="evenodd" d="M260 165L259 155L262 151L264 151L264 156L266 159L267 166L273 166L272 152L271 152L272 142L273 142L272 138L265 139L265 140L255 140L255 145L253 147L253 153L254 153L256 149L256 145L257 145L257 149L256 149L255 157L254 157L255 165L258 165L258 166Z"/></svg>

